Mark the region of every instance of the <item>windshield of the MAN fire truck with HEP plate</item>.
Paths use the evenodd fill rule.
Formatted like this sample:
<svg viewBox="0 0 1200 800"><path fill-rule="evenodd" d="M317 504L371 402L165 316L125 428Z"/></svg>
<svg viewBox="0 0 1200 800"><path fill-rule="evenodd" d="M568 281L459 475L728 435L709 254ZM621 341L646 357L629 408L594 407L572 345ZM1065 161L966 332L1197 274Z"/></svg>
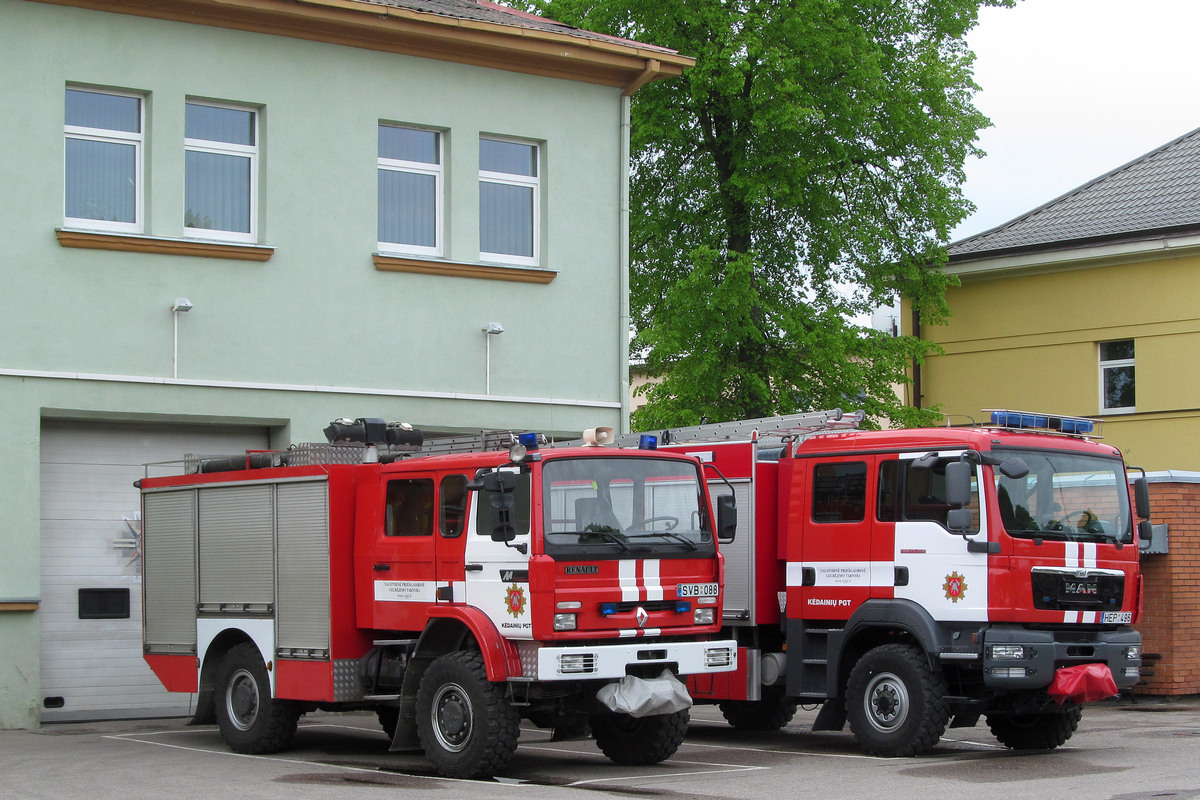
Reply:
<svg viewBox="0 0 1200 800"><path fill-rule="evenodd" d="M1025 477L994 471L1004 529L1025 539L1132 542L1129 489L1115 458L1022 450Z"/></svg>

